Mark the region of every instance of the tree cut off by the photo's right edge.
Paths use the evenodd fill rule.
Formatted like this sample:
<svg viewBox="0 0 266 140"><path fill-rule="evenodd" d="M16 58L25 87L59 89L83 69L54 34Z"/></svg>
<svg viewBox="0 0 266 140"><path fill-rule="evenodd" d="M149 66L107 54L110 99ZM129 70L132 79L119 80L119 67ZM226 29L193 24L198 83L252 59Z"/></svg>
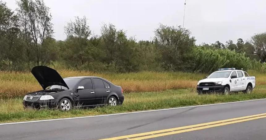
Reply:
<svg viewBox="0 0 266 140"><path fill-rule="evenodd" d="M251 43L255 47L254 54L260 57L262 63L266 62L266 32L252 36Z"/></svg>

